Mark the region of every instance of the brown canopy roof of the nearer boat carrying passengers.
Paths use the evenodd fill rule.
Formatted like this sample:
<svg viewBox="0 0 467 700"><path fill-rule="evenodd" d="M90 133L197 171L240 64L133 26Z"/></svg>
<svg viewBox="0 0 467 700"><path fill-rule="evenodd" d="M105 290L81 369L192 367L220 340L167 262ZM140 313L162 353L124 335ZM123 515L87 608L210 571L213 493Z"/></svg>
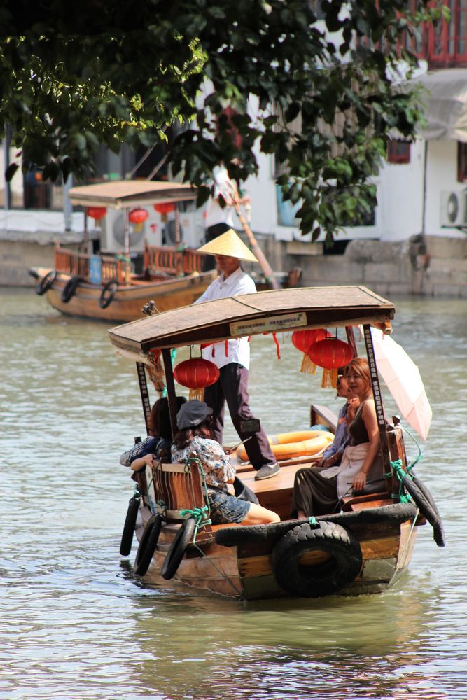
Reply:
<svg viewBox="0 0 467 700"><path fill-rule="evenodd" d="M121 354L144 361L165 349L260 335L368 323L391 330L394 306L363 286L275 289L165 311L109 330Z"/></svg>

